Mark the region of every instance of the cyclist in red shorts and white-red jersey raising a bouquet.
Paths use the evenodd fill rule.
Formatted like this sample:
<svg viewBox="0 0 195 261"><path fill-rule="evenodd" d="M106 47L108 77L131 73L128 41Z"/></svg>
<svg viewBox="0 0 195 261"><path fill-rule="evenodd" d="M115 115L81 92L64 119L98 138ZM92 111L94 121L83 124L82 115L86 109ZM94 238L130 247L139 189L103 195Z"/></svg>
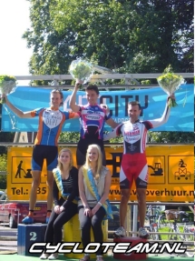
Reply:
<svg viewBox="0 0 195 261"><path fill-rule="evenodd" d="M130 199L130 189L133 179L135 180L138 198L138 211L140 216L139 236L147 238L149 235L144 228L146 213L146 188L148 185L148 165L145 155L147 132L151 128L165 124L170 115L168 106L169 98L161 118L150 121L140 121L141 105L132 101L128 105L128 115L130 120L118 125L108 135L103 136L103 140L109 140L115 136L123 136L123 155L120 170L120 189L122 193L120 204L120 227L114 232L114 236L125 236L125 217L127 214L128 201Z"/></svg>

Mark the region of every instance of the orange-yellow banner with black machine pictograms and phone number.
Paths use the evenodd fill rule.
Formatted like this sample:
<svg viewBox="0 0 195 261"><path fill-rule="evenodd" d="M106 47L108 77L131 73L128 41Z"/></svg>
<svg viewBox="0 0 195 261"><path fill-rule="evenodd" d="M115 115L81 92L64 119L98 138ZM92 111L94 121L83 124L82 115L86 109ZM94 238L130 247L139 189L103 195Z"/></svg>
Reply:
<svg viewBox="0 0 195 261"><path fill-rule="evenodd" d="M61 147L62 148L62 147ZM73 162L76 166L76 147ZM119 173L122 160L122 147L106 147L106 165L112 173L110 200L120 201ZM146 191L147 201L193 202L194 200L194 146L148 146L146 148L149 185ZM9 200L29 200L33 147L11 147L7 160L7 196ZM44 163L41 185L37 190L37 201L46 200L46 165ZM131 201L136 201L136 189L133 183Z"/></svg>

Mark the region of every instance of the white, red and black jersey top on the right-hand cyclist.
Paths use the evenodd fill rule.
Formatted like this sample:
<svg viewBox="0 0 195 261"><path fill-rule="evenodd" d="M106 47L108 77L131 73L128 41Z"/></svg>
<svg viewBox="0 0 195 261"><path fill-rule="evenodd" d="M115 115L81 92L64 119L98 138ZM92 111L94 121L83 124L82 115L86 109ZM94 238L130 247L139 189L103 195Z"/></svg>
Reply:
<svg viewBox="0 0 195 261"><path fill-rule="evenodd" d="M168 121L170 108L168 105L161 118L150 121L127 121L118 125L111 133L103 136L103 140L111 139L115 136L123 136L123 154L145 154L147 132L151 128L163 125Z"/></svg>

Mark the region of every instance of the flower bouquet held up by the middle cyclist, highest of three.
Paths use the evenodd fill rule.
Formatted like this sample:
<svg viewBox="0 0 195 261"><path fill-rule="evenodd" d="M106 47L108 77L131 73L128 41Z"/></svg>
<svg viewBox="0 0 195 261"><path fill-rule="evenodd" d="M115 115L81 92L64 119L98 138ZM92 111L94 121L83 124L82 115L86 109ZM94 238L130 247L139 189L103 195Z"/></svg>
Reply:
<svg viewBox="0 0 195 261"><path fill-rule="evenodd" d="M69 72L76 83L80 83L80 88L88 82L93 75L93 65L81 58L73 60L69 66Z"/></svg>

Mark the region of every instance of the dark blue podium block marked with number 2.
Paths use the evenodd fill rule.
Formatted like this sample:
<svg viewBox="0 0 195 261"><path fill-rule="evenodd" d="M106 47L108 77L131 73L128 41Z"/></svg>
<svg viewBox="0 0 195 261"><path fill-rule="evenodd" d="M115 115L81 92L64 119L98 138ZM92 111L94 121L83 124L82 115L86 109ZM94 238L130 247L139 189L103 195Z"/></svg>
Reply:
<svg viewBox="0 0 195 261"><path fill-rule="evenodd" d="M44 242L44 234L46 227L47 224L18 224L17 254L21 256L41 256L43 251L41 251L40 254L31 254L28 252L28 250L34 243ZM37 246L35 248L38 249ZM40 249L43 250L43 247Z"/></svg>

